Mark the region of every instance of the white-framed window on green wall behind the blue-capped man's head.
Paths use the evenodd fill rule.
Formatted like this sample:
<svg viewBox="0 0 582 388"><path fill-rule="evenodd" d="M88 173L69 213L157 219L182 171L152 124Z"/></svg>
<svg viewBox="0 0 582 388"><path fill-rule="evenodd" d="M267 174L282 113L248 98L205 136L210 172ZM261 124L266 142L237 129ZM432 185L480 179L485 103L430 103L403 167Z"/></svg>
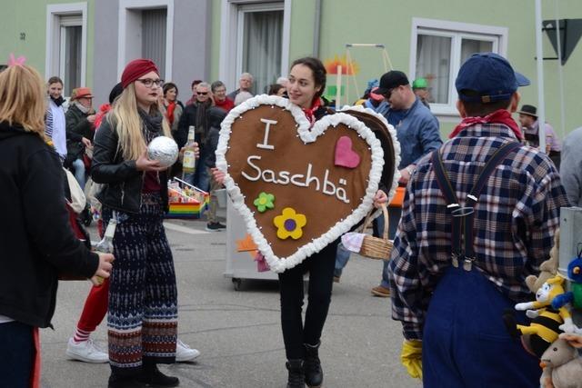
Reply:
<svg viewBox="0 0 582 388"><path fill-rule="evenodd" d="M455 79L474 53L505 55L507 28L442 20L413 19L411 81L425 78L434 114L457 114Z"/></svg>

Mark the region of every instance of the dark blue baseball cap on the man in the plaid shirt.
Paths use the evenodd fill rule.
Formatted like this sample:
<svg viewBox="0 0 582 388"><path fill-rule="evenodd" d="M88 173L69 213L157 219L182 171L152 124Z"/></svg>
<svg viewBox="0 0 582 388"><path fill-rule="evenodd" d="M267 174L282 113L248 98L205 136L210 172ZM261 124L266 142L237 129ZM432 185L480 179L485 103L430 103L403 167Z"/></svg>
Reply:
<svg viewBox="0 0 582 388"><path fill-rule="evenodd" d="M455 81L459 100L483 104L509 100L517 87L529 84L506 58L495 53L471 55L461 65Z"/></svg>

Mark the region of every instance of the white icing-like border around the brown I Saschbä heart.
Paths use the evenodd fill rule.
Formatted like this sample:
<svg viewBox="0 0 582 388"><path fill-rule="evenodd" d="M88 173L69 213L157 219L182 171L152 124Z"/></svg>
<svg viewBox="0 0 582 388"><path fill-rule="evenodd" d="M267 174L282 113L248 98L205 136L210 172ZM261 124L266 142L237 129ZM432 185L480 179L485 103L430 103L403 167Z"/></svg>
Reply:
<svg viewBox="0 0 582 388"><path fill-rule="evenodd" d="M244 114L248 110L255 109L259 105L276 105L290 111L291 114L293 114L295 117L297 123L297 133L304 143L315 142L317 136L324 134L328 126L346 124L349 128L356 130L357 134L362 137L368 145L370 145L370 150L372 153L372 165L368 175L366 194L364 195L362 202L357 206L356 210L352 214L349 214L346 219L338 221L329 229L329 231L326 232L326 234L322 234L321 236L312 240L311 243L307 243L299 247L295 254L283 258L279 258L273 253L270 244L266 241L265 236L259 230L255 217L253 216L253 212L245 204L244 195L241 193L240 188L235 184L234 179L230 176L230 174L228 174L228 165L226 163L225 155L228 150L231 125L241 114ZM394 128L392 128L392 131L394 131ZM396 142L396 144L398 143ZM399 157L399 144L398 153L395 154L397 154ZM313 128L310 128L309 121L306 119L305 114L296 104L291 103L286 98L277 97L275 95L257 95L246 100L246 102L243 104L233 108L222 122L220 137L218 139L218 146L216 147L216 167L226 174L226 190L233 201L234 207L238 213L242 215L246 224L246 229L253 238L253 241L255 242L259 251L265 256L266 262L269 264L272 271L276 273L282 273L286 269L293 268L297 264L300 264L303 260L306 259L306 257L321 251L326 247L327 244L334 242L339 236L348 232L352 226L363 219L372 209L374 196L376 195L376 191L378 189L378 183L382 177L382 169L384 167L384 150L382 149L382 144L380 141L376 139L374 132L364 123L357 120L354 116L343 113L326 115L321 120L316 121Z"/></svg>

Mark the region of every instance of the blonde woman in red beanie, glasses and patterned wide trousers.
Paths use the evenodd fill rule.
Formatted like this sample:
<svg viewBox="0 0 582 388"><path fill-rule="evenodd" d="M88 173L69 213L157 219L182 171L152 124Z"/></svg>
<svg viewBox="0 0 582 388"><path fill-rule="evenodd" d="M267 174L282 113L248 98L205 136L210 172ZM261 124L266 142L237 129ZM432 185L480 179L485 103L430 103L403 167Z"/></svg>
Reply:
<svg viewBox="0 0 582 388"><path fill-rule="evenodd" d="M171 136L157 107L161 83L152 61L127 64L124 90L95 135L92 177L105 185L97 199L104 223L117 223L107 314L110 388L179 384L157 369L175 362L177 333L176 274L162 224L166 167L146 154L152 139Z"/></svg>

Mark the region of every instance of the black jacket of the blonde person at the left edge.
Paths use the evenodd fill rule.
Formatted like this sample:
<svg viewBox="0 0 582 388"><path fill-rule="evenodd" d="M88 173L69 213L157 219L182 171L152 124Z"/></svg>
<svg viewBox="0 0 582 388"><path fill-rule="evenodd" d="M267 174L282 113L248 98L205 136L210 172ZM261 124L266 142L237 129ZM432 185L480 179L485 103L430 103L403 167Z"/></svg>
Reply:
<svg viewBox="0 0 582 388"><path fill-rule="evenodd" d="M73 234L63 167L38 134L0 123L0 315L47 327L57 274L90 277L99 258Z"/></svg>

